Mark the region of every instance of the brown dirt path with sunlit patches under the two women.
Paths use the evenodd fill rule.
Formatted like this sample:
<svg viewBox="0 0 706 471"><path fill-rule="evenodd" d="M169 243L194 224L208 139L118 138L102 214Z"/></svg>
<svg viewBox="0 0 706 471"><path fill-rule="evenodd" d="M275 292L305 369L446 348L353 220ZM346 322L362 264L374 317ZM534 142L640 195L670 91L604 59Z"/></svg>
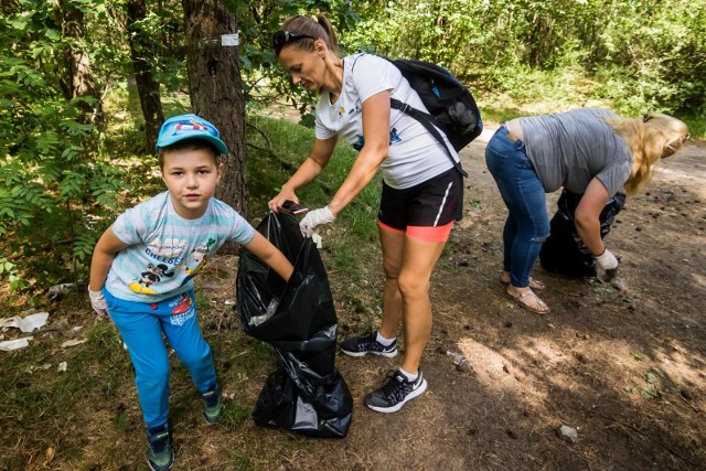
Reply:
<svg viewBox="0 0 706 471"><path fill-rule="evenodd" d="M339 355L357 407L349 437L314 446L317 468L706 469L706 146L689 142L618 216L607 240L622 289L537 268L553 308L541 317L498 278L505 210L484 163L490 136L462 152L468 217L432 281L428 393L399 414L366 410L396 363ZM557 437L564 425L576 443Z"/></svg>

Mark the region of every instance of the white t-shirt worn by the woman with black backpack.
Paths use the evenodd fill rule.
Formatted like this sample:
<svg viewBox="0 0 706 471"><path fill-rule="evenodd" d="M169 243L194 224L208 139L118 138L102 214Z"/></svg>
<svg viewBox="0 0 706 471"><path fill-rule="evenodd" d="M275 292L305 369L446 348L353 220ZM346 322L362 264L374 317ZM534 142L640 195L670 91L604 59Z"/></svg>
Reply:
<svg viewBox="0 0 706 471"><path fill-rule="evenodd" d="M389 61L372 54L344 57L341 96L333 104L329 92L319 97L317 138L329 139L340 135L360 151L364 144L362 104L384 90L389 90L392 98L427 111L419 95ZM449 149L458 161L458 154L450 144ZM388 157L381 165L385 183L397 190L407 189L452 167L446 150L419 121L391 109Z"/></svg>

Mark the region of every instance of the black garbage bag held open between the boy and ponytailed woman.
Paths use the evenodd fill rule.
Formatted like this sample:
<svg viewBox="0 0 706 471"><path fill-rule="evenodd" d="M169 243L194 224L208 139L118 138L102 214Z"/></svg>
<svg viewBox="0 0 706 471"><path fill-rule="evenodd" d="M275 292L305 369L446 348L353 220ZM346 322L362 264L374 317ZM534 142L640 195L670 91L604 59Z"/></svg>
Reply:
<svg viewBox="0 0 706 471"><path fill-rule="evenodd" d="M295 265L286 283L240 250L236 311L243 330L271 344L281 367L270 374L255 405L259 426L312 437L345 437L353 398L335 368L338 321L329 279L314 243L291 215L269 213L257 226Z"/></svg>

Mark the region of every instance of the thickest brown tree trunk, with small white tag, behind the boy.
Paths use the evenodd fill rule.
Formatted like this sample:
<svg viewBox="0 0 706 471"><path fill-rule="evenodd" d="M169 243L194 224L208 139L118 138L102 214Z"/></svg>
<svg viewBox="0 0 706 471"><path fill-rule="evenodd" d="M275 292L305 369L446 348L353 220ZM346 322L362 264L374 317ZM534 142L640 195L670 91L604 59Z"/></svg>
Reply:
<svg viewBox="0 0 706 471"><path fill-rule="evenodd" d="M237 21L221 0L182 0L188 41L186 65L194 113L221 131L228 153L216 197L248 217L245 181L245 103L237 46L221 44L223 34L235 34ZM236 246L224 246L234 253Z"/></svg>

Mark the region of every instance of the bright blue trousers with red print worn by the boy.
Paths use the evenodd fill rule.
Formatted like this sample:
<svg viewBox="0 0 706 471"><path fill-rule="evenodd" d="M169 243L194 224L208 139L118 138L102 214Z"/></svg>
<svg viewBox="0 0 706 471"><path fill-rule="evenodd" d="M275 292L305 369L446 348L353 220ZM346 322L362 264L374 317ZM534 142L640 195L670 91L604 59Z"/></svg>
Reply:
<svg viewBox="0 0 706 471"><path fill-rule="evenodd" d="M105 288L103 293L132 358L137 394L148 429L167 424L169 417L169 354L162 333L202 394L216 385L211 347L196 322L193 291L154 303L125 301Z"/></svg>

